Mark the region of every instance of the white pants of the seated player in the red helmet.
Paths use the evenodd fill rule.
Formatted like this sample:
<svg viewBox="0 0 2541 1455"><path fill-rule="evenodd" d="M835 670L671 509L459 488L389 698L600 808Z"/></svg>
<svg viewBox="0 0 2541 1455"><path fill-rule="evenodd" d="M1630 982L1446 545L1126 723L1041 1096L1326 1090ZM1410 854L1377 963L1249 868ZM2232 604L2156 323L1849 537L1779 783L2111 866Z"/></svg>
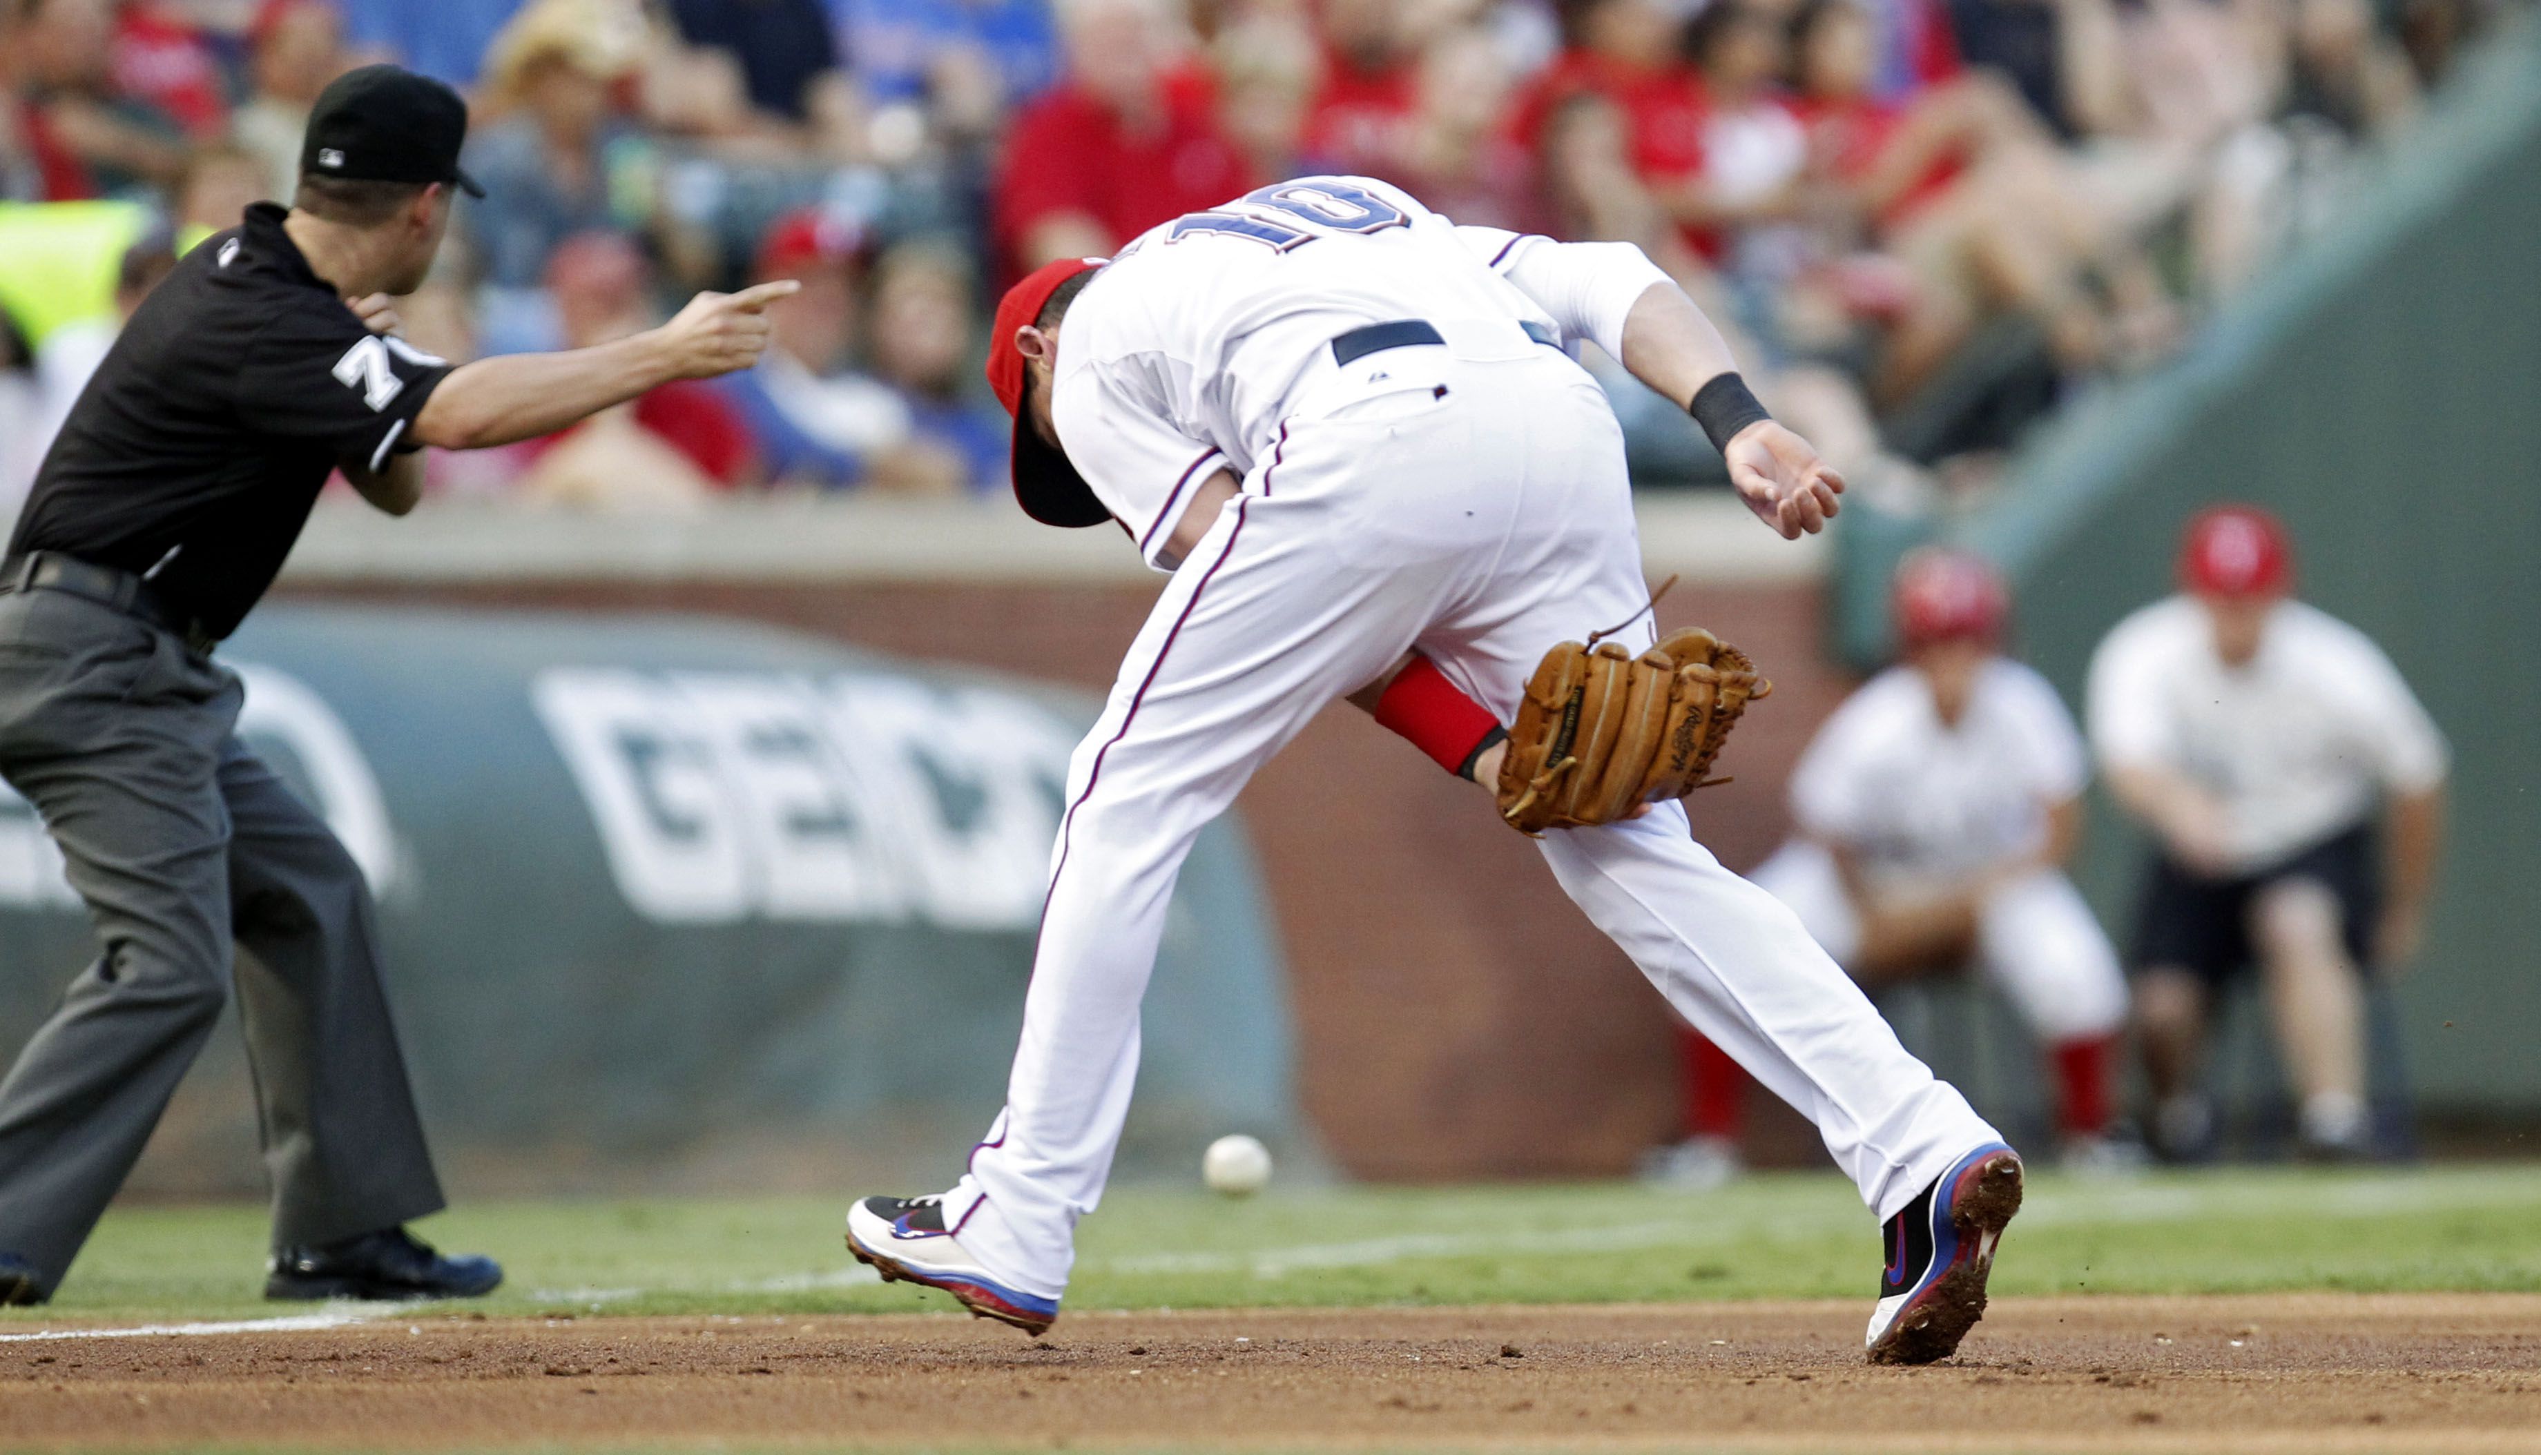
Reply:
<svg viewBox="0 0 2541 1455"><path fill-rule="evenodd" d="M1758 863L1753 879L1799 914L1827 955L1852 960L1860 917L1824 846L1791 840ZM2127 1021L2117 950L2073 881L2053 868L2010 879L1985 896L1974 967L2051 1046L2114 1036Z"/></svg>

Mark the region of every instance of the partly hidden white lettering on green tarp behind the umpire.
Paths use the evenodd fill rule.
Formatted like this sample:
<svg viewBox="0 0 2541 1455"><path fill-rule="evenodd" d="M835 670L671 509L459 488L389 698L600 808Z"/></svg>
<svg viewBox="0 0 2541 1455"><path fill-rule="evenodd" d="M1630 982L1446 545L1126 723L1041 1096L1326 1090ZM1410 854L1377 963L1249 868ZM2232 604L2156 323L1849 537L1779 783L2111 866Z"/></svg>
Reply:
<svg viewBox="0 0 2541 1455"><path fill-rule="evenodd" d="M361 757L335 708L300 678L257 663L236 663L234 670L246 683L239 736L295 792L315 800L310 807L343 840L371 891L389 896L399 884L396 833L389 828L389 802L379 792L379 777L371 774L371 759ZM0 909L76 904L79 894L61 876L53 835L28 802L0 782Z"/></svg>

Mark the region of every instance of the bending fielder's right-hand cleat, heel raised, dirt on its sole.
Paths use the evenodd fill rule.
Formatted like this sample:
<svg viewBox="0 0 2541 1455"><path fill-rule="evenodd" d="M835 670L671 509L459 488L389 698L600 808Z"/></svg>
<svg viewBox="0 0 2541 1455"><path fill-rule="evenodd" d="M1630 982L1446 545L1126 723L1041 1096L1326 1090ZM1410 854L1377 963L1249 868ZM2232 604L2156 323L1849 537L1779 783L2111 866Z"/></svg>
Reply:
<svg viewBox="0 0 2541 1455"><path fill-rule="evenodd" d="M2020 1153L1987 1143L1888 1219L1888 1267L1863 1348L1870 1364L1949 1359L1985 1318L1995 1242L2020 1211Z"/></svg>

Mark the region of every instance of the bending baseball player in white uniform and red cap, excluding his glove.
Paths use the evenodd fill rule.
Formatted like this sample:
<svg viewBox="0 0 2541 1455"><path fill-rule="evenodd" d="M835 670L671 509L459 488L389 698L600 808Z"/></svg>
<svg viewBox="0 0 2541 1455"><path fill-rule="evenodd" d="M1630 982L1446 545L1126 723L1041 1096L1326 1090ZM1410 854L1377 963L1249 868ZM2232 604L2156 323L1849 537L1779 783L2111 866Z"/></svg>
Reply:
<svg viewBox="0 0 2541 1455"><path fill-rule="evenodd" d="M999 305L994 340L1024 508L1115 521L1171 581L1070 767L1006 1107L950 1191L854 1204L849 1247L1039 1333L1110 1171L1138 1000L1199 828L1324 703L1390 698L1410 650L1420 670L1400 675L1484 724L1426 747L1514 762L1522 739L1489 736L1540 711L1540 663L1565 640L1652 642L1621 432L1560 345L1596 340L1687 404L1784 536L1819 528L1842 482L1631 244L1459 229L1367 178L1268 185L1110 262L1049 264ZM2020 1201L2012 1150L1677 802L1540 846L1885 1219L1870 1356L1946 1356Z"/></svg>

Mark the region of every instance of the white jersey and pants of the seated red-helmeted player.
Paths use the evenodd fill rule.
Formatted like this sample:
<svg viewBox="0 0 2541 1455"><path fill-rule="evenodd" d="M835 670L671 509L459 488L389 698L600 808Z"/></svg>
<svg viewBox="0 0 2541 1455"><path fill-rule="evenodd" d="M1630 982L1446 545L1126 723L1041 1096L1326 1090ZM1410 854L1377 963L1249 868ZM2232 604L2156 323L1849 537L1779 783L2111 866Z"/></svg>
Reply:
<svg viewBox="0 0 2541 1455"><path fill-rule="evenodd" d="M1939 894L2038 853L2048 807L2089 782L2081 731L2056 688L1995 658L1957 724L1913 668L1888 668L1835 708L1791 772L1802 835L1756 868L1837 962L1860 914L1830 846L1855 856L1870 894ZM2063 874L1995 886L1977 909L1977 967L2043 1041L2109 1036L2127 1016L2117 950Z"/></svg>

